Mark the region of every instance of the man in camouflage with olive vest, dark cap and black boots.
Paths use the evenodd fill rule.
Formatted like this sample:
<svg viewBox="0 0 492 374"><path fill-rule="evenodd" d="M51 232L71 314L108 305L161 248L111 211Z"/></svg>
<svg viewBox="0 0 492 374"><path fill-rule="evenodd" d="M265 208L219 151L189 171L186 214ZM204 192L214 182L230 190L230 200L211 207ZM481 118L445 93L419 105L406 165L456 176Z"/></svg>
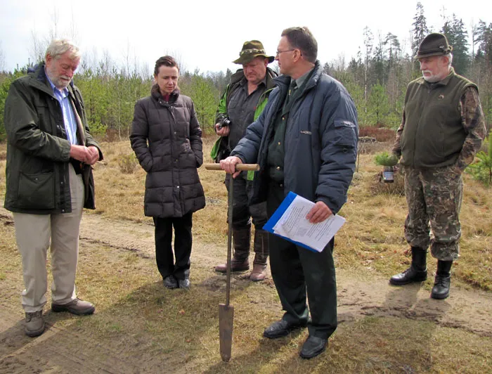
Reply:
<svg viewBox="0 0 492 374"><path fill-rule="evenodd" d="M477 85L455 74L452 49L439 33L429 34L420 44L415 58L422 77L408 84L393 148L405 174L405 238L412 250L412 264L389 283L426 280L430 245L437 259L434 299L449 296L451 265L460 250L462 172L486 134Z"/></svg>

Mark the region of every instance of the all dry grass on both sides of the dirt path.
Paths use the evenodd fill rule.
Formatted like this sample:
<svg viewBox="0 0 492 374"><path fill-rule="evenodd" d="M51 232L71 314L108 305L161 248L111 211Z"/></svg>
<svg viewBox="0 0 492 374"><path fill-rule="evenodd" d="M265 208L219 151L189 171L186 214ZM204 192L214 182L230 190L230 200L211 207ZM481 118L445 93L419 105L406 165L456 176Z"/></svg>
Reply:
<svg viewBox="0 0 492 374"><path fill-rule="evenodd" d="M214 138L205 138L206 162ZM151 224L143 216L145 172L121 172L119 160L129 155L129 142L103 143L105 162L96 166L96 203L89 214ZM0 153L4 146L0 146ZM378 146L382 148L383 146ZM387 145L389 148L389 145ZM388 149L386 148L386 149ZM379 152L381 149L377 149ZM406 201L393 186L377 181L380 167L373 153L361 155L359 172L342 214L347 224L337 236L338 268L354 273L390 276L404 269L410 258L403 252ZM4 193L5 161L0 161L0 193ZM207 207L194 216L195 240L226 247L226 188L224 174L200 168ZM492 287L492 198L465 175L462 206L462 257L455 264L453 282L490 290ZM394 188L395 191L391 191ZM22 285L20 258L13 226L0 226L0 285ZM434 261L429 262L434 271ZM190 292L163 290L153 261L133 252L84 244L79 259L79 295L98 305L91 318L60 318L56 323L70 331L84 331L91 339L117 347L122 357L141 362L142 372L183 373L486 373L492 360L492 339L465 330L444 328L407 318L365 317L345 321L330 339L330 349L318 359L303 361L297 354L306 333L267 341L265 325L281 314L271 283L238 282L231 304L235 307L233 360L219 359L218 307L224 302L224 277L210 269L193 268ZM432 278L432 277L431 277ZM427 280L430 288L432 280ZM18 303L11 292L5 303ZM49 302L49 300L48 300ZM115 318L117 316L117 318ZM101 353L103 354L103 352ZM156 357L162 363L156 363ZM145 366L146 362L154 366ZM159 366L162 365L162 366Z"/></svg>

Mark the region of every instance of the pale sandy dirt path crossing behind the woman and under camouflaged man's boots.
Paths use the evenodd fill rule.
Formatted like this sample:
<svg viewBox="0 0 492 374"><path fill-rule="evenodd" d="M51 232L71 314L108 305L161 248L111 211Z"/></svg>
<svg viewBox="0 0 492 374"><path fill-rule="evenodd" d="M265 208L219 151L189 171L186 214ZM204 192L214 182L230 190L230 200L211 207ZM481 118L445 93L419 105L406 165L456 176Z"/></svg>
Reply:
<svg viewBox="0 0 492 374"><path fill-rule="evenodd" d="M154 257L153 226L148 224L108 221L86 214L81 239ZM213 245L193 243L193 264L212 268L223 259L219 255L223 252ZM385 278L368 281L341 269L337 270L337 288L339 321L363 316L398 316L426 319L492 336L492 295L487 292L453 287L451 297L434 300L418 284L396 288L389 286Z"/></svg>

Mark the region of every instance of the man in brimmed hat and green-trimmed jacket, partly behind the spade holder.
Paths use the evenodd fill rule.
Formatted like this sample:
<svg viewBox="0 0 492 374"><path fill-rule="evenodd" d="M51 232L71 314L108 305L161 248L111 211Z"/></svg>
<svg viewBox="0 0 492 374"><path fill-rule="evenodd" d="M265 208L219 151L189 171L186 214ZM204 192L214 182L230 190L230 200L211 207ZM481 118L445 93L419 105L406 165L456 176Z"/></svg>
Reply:
<svg viewBox="0 0 492 374"><path fill-rule="evenodd" d="M217 142L224 148L233 149L244 136L249 124L259 117L268 95L275 87L273 78L276 72L268 67L273 56L268 56L261 41L246 41L242 45L239 58L233 63L242 65L231 77L231 82L221 97L216 112L216 133L222 138ZM216 162L220 157L212 155ZM254 224L254 262L250 279L264 280L266 276L266 261L268 259L268 234L264 231L266 223L266 204L250 205L248 195L251 191L252 176L243 172L234 179L234 207L233 207L233 240L234 255L232 271L250 269L250 242L251 224ZM231 176L226 176L226 187L229 188ZM221 273L226 272L226 264L219 264L215 268Z"/></svg>

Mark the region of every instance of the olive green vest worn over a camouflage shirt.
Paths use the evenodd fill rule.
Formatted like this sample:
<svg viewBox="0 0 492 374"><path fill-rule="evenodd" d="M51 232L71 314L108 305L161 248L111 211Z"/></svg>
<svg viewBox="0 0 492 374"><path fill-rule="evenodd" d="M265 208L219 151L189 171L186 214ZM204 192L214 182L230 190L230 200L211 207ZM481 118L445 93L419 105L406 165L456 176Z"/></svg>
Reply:
<svg viewBox="0 0 492 374"><path fill-rule="evenodd" d="M408 84L401 164L418 169L456 162L466 137L460 100L469 86L477 89L453 68L440 82L429 83L421 77Z"/></svg>

